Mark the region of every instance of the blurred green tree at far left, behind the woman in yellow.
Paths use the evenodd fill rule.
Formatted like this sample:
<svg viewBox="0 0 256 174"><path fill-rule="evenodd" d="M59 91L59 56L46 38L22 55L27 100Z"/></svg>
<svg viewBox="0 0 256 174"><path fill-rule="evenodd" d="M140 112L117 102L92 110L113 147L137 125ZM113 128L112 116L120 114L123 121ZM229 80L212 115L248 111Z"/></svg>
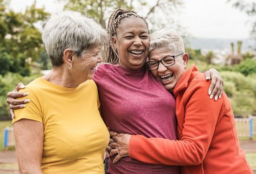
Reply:
<svg viewBox="0 0 256 174"><path fill-rule="evenodd" d="M8 71L29 75L29 64L44 50L41 33L35 27L48 13L36 8L36 1L24 13L8 9L10 0L0 0L0 74Z"/></svg>

